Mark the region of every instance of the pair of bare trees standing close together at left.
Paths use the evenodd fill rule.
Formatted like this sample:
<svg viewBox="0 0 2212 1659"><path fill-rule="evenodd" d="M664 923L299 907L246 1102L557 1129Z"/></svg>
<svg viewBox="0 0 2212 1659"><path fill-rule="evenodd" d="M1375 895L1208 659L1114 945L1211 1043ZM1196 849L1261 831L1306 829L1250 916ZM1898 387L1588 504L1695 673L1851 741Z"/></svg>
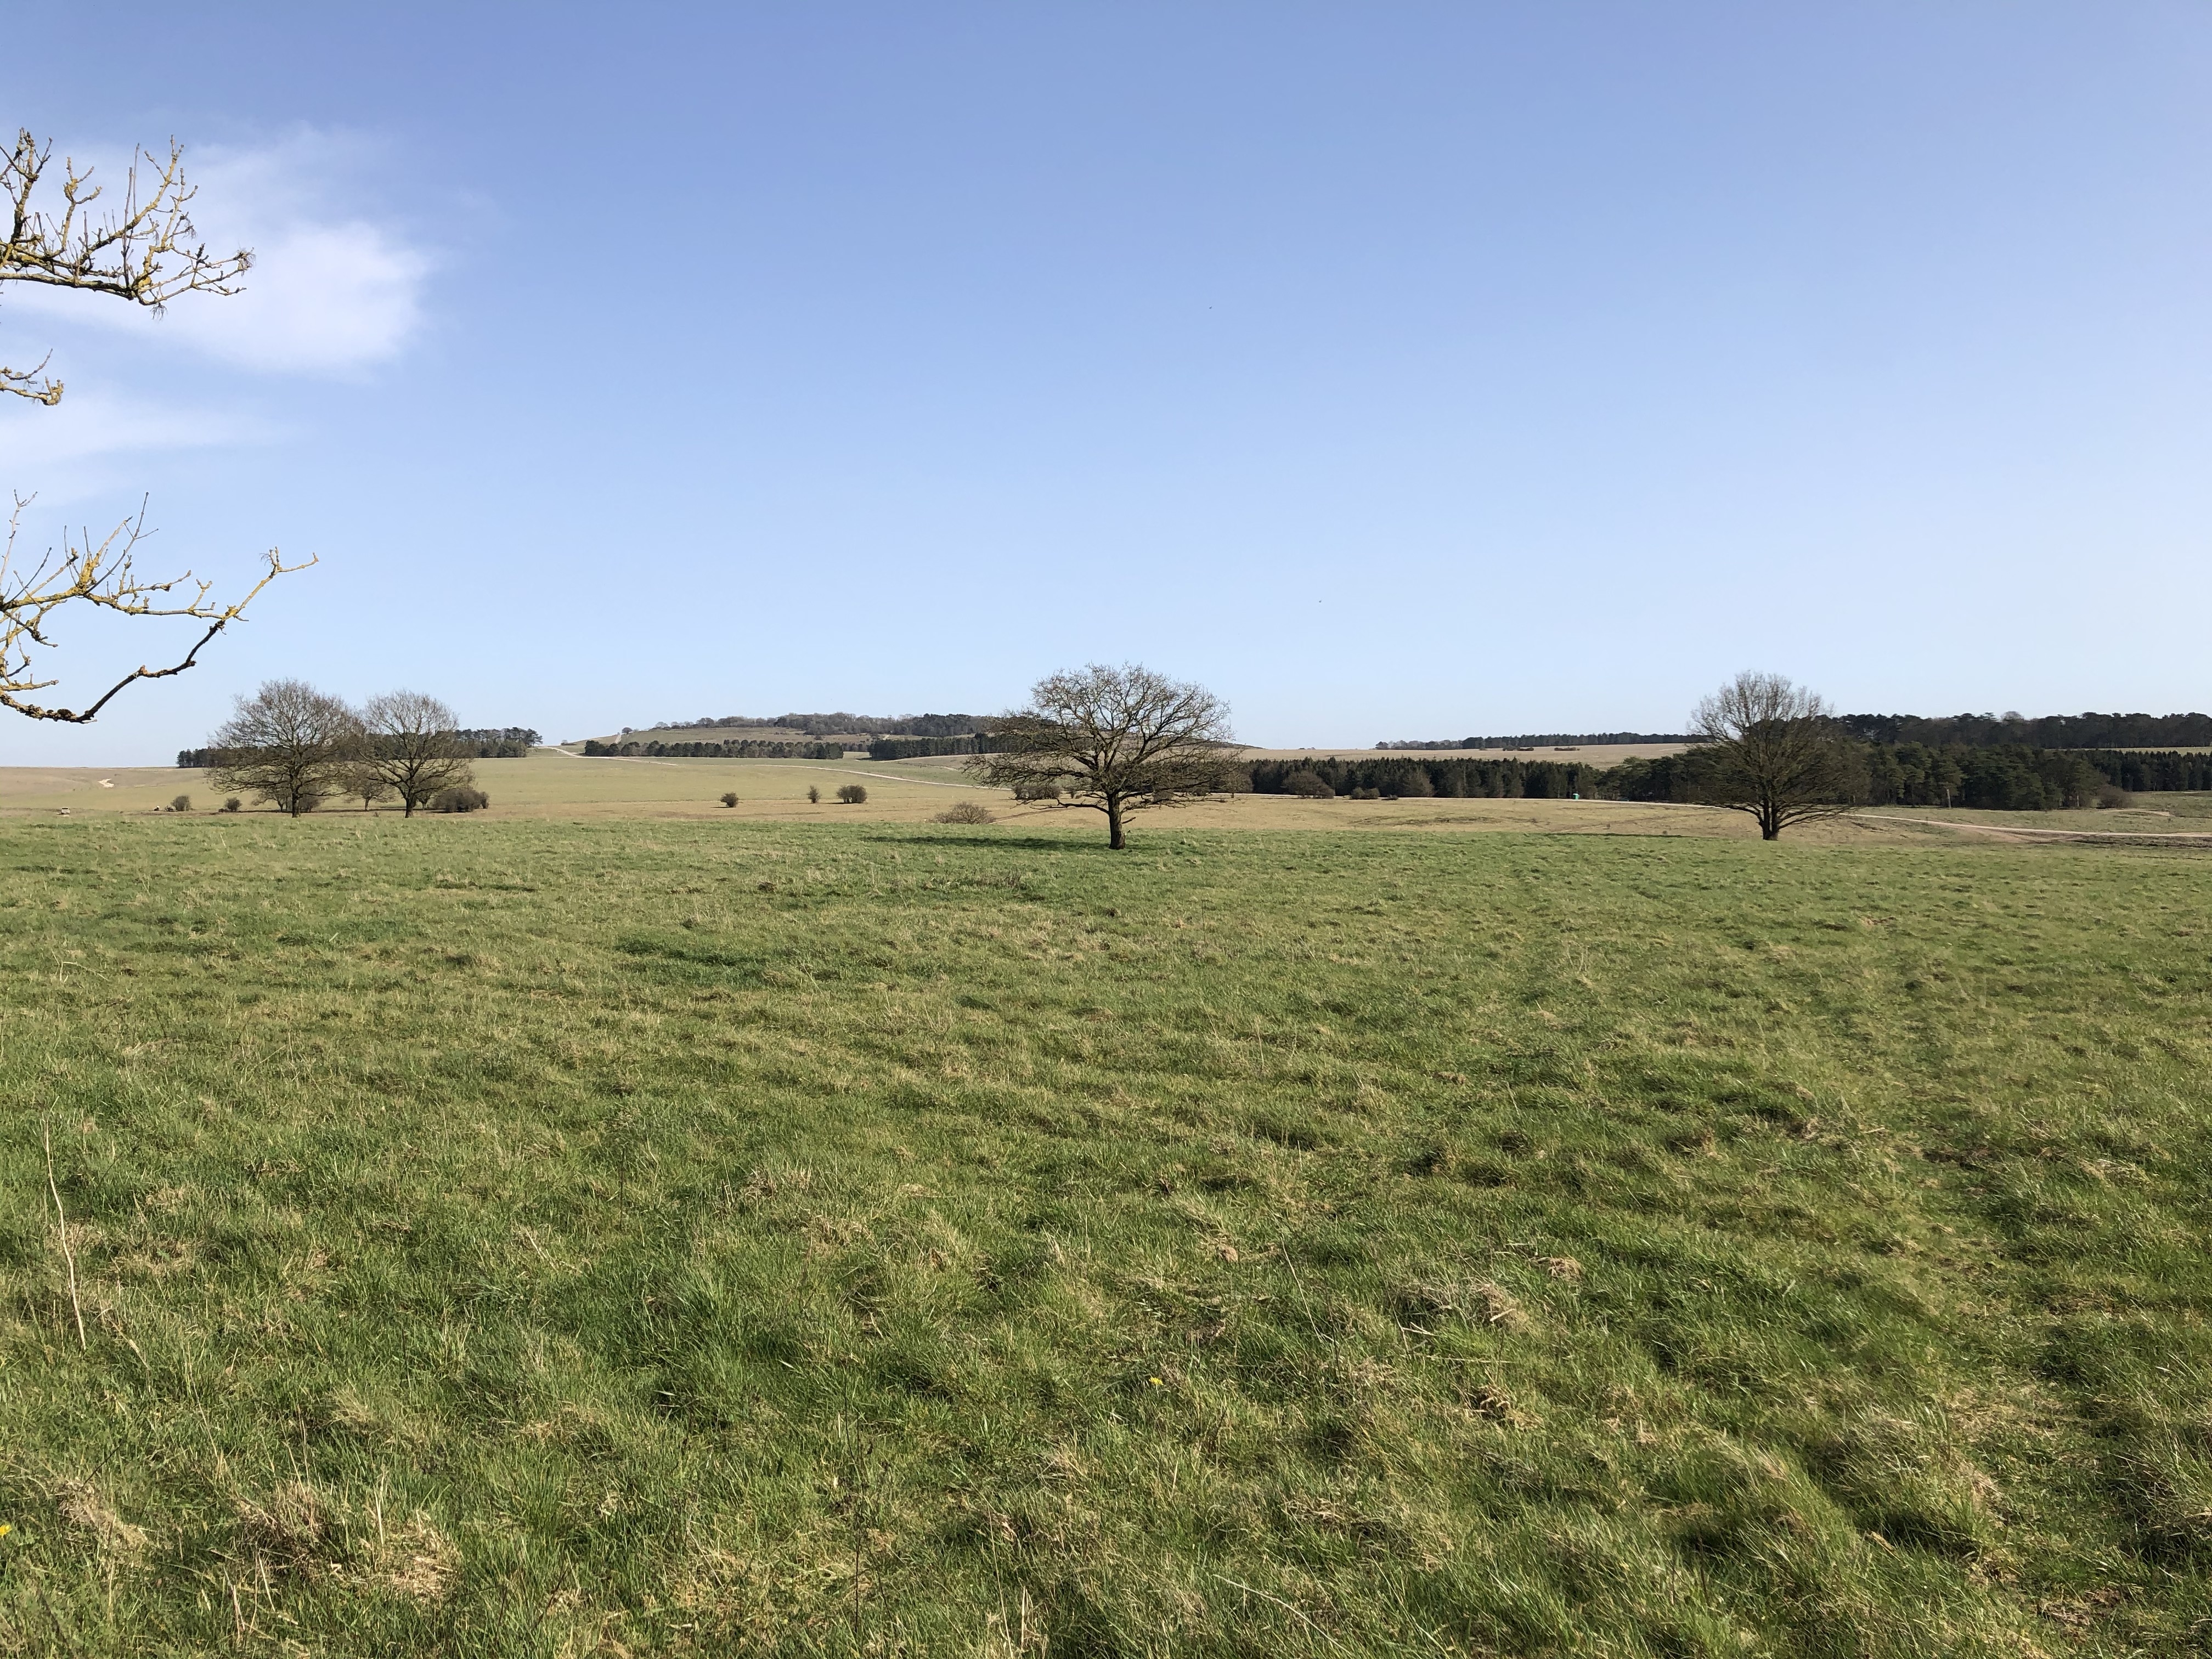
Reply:
<svg viewBox="0 0 2212 1659"><path fill-rule="evenodd" d="M460 721L422 692L385 692L352 708L301 679L272 679L239 699L208 748L212 787L246 790L294 818L347 796L361 796L363 807L398 801L409 818L425 805L489 805Z"/></svg>

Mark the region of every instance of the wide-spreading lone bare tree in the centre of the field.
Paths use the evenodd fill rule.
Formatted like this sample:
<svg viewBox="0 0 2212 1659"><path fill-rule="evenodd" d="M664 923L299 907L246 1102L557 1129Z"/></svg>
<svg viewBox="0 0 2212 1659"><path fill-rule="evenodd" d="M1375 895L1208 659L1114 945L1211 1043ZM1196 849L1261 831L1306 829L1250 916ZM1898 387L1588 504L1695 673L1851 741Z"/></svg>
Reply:
<svg viewBox="0 0 2212 1659"><path fill-rule="evenodd" d="M1203 686L1135 664L1040 679L1029 708L991 723L991 754L969 774L993 790L1106 814L1106 845L1124 847L1121 821L1217 790L1232 750L1230 710Z"/></svg>

